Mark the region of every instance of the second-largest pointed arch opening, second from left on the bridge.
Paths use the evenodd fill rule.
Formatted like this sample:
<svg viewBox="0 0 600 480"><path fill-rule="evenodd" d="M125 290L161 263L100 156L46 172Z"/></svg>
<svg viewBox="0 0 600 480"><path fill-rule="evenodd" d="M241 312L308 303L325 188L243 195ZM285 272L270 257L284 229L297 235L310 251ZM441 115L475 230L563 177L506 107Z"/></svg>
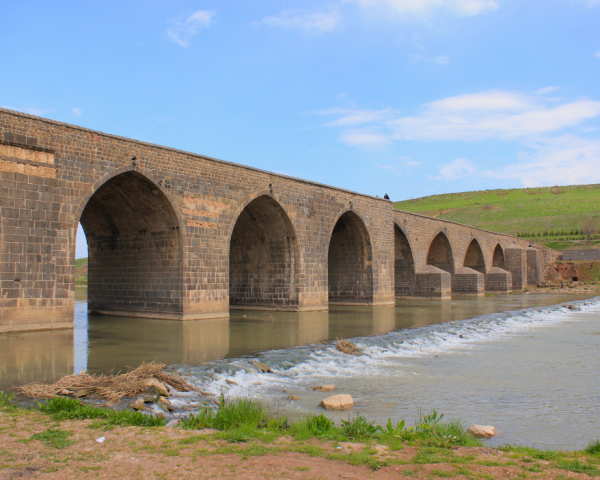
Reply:
<svg viewBox="0 0 600 480"><path fill-rule="evenodd" d="M283 208L268 195L240 213L229 247L229 305L234 308L298 304L296 234Z"/></svg>

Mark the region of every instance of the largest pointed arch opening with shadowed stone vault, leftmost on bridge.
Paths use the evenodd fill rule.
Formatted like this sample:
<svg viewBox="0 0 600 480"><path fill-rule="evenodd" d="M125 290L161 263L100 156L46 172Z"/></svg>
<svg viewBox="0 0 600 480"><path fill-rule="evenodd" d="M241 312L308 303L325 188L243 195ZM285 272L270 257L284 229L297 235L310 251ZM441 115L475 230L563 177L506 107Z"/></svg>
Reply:
<svg viewBox="0 0 600 480"><path fill-rule="evenodd" d="M88 310L116 316L178 317L183 252L177 216L138 172L116 175L80 218L88 246Z"/></svg>

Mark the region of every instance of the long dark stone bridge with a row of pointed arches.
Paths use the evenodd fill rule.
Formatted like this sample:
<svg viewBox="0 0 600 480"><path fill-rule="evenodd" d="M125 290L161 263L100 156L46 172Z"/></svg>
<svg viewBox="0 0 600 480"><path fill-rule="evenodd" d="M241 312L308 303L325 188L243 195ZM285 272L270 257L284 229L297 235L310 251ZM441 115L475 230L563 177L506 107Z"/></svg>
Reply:
<svg viewBox="0 0 600 480"><path fill-rule="evenodd" d="M0 109L0 332L521 291L557 252L390 201Z"/></svg>

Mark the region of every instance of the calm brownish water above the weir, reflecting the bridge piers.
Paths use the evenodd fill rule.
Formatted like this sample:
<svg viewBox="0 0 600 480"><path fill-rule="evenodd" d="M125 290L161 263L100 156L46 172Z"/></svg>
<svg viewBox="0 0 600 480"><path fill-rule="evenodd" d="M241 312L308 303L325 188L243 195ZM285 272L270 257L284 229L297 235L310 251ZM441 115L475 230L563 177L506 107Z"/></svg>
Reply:
<svg viewBox="0 0 600 480"><path fill-rule="evenodd" d="M402 300L394 306L332 306L321 312L235 310L230 319L166 321L88 316L86 289L76 290L74 331L0 335L0 389L51 381L73 371L107 372L143 361L199 365L260 351L383 335L487 313L573 299L559 295ZM581 297L580 297L581 298Z"/></svg>

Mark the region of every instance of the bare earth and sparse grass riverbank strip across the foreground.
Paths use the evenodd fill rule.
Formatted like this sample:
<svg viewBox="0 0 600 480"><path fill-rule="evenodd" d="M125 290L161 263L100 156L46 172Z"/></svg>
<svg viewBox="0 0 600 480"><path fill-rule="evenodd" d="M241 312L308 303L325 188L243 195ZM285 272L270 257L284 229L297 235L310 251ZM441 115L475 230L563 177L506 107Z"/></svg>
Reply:
<svg viewBox="0 0 600 480"><path fill-rule="evenodd" d="M120 427L57 421L34 409L0 406L0 478L457 478L583 479L600 475L598 453L525 447L391 444L227 431ZM474 440L467 443L475 443ZM429 443L429 444L428 444ZM475 443L476 444L476 443ZM599 449L600 450L600 449ZM595 451L595 449L593 449Z"/></svg>

